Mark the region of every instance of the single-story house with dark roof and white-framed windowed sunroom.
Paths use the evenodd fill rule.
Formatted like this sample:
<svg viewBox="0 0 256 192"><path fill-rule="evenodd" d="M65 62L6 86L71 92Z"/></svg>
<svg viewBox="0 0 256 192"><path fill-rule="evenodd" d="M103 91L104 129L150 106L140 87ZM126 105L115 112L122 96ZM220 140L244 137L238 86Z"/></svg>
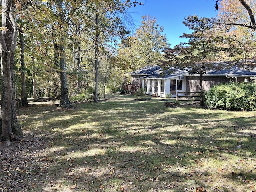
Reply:
<svg viewBox="0 0 256 192"><path fill-rule="evenodd" d="M146 66L129 73L131 84L141 84L147 94L166 97L176 97L180 92L197 92L200 90L199 74L171 67L163 73L157 65ZM228 82L252 82L256 79L256 70L248 71L234 66L223 70L209 70L203 75L203 90L207 91L216 84Z"/></svg>

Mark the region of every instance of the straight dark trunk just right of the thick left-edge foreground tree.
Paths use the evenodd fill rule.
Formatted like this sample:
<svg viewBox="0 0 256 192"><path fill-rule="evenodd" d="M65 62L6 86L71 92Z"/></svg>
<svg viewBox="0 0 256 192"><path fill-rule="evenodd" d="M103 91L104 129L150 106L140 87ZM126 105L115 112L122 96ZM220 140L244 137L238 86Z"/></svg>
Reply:
<svg viewBox="0 0 256 192"><path fill-rule="evenodd" d="M19 37L20 37L20 73L21 73L21 101L22 101L22 106L28 106L28 100L27 100L27 93L26 93L26 79L25 79L25 58L24 58L24 49L25 49L25 44L24 44L24 36L23 32L20 30L19 32Z"/></svg>

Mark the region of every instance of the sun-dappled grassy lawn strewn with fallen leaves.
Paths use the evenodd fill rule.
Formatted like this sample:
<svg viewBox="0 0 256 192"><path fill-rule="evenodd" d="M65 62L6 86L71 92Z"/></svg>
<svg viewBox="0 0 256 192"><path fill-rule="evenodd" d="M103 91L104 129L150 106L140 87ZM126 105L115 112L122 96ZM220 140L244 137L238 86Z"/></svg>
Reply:
<svg viewBox="0 0 256 192"><path fill-rule="evenodd" d="M256 113L165 102L30 103L25 140L0 143L0 191L254 192Z"/></svg>

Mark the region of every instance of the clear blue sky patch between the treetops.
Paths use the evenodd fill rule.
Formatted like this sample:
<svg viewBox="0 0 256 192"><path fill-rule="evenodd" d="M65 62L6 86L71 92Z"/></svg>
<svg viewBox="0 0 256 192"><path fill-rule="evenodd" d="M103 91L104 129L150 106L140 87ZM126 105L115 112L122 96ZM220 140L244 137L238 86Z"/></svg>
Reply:
<svg viewBox="0 0 256 192"><path fill-rule="evenodd" d="M154 16L157 23L164 27L163 34L166 34L168 43L175 46L180 42L186 42L179 38L184 32L191 31L182 24L184 18L189 15L199 17L214 17L214 0L141 0L144 5L138 5L129 10L136 27L141 25L141 17L144 15Z"/></svg>

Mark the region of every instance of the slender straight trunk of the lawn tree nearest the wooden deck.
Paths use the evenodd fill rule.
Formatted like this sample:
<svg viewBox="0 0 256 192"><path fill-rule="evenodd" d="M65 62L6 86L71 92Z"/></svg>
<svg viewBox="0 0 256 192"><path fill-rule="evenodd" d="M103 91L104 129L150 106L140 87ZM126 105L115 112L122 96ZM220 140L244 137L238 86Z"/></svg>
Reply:
<svg viewBox="0 0 256 192"><path fill-rule="evenodd" d="M93 100L94 102L98 102L98 73L99 73L99 13L96 14L96 20L95 20L95 86L94 86L94 96Z"/></svg>

